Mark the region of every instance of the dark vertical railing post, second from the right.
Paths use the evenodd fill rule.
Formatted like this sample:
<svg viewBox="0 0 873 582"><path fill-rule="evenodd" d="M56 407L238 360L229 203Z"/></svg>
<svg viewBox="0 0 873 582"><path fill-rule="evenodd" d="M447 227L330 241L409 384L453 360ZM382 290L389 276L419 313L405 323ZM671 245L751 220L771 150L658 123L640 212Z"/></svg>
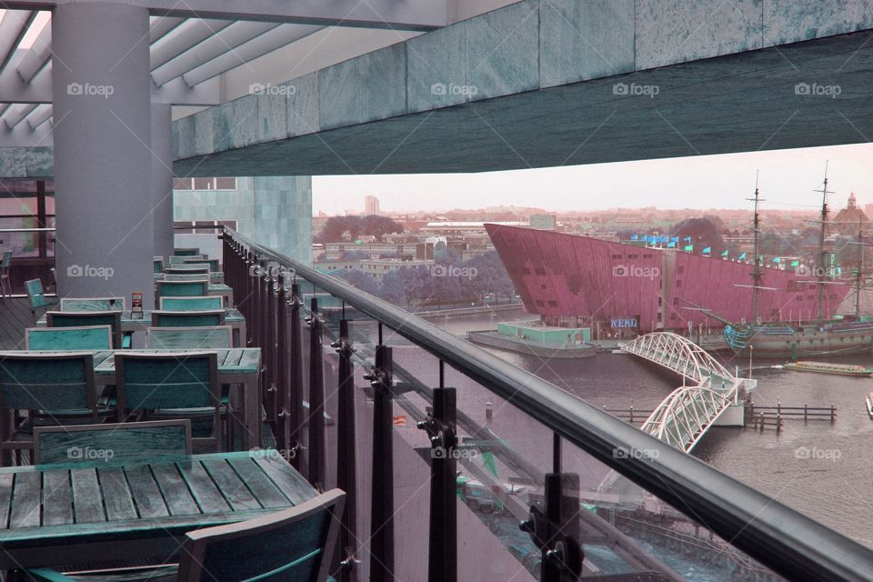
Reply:
<svg viewBox="0 0 873 582"><path fill-rule="evenodd" d="M432 411L418 423L431 443L429 582L457 580L456 400L455 388L434 388Z"/></svg>

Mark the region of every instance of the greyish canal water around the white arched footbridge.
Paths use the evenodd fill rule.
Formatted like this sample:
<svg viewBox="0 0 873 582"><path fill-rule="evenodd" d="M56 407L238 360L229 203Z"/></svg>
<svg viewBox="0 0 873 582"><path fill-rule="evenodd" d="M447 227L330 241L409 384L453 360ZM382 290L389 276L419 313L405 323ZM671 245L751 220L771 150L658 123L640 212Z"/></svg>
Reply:
<svg viewBox="0 0 873 582"><path fill-rule="evenodd" d="M433 320L457 335L488 329L495 319L530 319L518 312L491 316L456 316ZM651 410L677 386L676 376L634 356L598 354L584 359L544 361L490 350L516 366L542 377L596 406ZM731 369L748 375L748 359L724 357ZM873 366L873 356L847 356L829 361ZM873 392L873 378L792 372L773 366L784 361L754 361L752 377L758 389L756 406L837 407L837 420L788 419L781 433L751 427L714 427L693 455L779 502L873 547L873 421L864 398Z"/></svg>

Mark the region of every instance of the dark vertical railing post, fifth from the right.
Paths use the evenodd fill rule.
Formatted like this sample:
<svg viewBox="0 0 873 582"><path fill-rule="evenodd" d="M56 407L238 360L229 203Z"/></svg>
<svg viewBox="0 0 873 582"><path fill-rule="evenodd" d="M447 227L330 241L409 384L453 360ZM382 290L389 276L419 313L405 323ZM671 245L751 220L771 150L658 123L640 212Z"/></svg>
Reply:
<svg viewBox="0 0 873 582"><path fill-rule="evenodd" d="M321 319L318 299L312 298L309 309L309 483L324 491L325 483L325 363L322 352Z"/></svg>

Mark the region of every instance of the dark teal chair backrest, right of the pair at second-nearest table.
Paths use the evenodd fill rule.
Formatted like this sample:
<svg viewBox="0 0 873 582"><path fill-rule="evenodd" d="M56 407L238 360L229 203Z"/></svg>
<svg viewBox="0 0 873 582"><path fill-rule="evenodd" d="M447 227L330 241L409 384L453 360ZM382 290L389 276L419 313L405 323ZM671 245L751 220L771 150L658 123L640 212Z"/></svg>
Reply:
<svg viewBox="0 0 873 582"><path fill-rule="evenodd" d="M119 416L127 410L218 406L216 352L115 352Z"/></svg>

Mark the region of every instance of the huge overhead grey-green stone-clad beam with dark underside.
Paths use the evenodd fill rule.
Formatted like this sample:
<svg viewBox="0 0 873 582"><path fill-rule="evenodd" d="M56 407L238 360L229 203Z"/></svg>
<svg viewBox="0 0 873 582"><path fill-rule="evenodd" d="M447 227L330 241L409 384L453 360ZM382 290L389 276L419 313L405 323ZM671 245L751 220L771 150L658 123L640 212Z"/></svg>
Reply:
<svg viewBox="0 0 873 582"><path fill-rule="evenodd" d="M470 172L866 142L871 28L873 0L525 0L176 121L176 176ZM0 149L0 175L50 170L31 157Z"/></svg>

